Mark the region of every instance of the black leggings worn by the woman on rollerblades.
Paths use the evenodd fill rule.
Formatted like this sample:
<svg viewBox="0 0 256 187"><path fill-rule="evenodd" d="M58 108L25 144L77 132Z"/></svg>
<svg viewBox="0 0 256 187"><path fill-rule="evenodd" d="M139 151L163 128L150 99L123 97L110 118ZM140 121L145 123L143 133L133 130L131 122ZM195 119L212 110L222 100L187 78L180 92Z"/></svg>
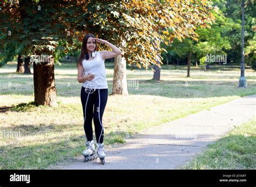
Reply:
<svg viewBox="0 0 256 187"><path fill-rule="evenodd" d="M90 92L90 91L89 91ZM84 112L84 131L87 141L92 140L92 118L95 126L97 143L103 143L102 117L107 103L108 89L96 89L91 93L86 93L82 87L80 97ZM93 111L94 106L94 111Z"/></svg>

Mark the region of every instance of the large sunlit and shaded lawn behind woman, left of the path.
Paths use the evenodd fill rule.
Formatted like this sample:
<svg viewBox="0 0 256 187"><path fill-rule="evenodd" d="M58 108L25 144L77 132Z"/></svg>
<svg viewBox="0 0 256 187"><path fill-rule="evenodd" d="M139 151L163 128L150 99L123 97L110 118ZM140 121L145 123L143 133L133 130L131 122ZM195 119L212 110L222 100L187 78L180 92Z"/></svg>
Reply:
<svg viewBox="0 0 256 187"><path fill-rule="evenodd" d="M55 67L56 108L33 105L33 75L15 70L15 63L0 68L0 167L45 169L80 155L85 136L76 64ZM106 74L110 94L112 63L106 63ZM109 95L103 116L104 143L124 143L145 128L255 94L255 72L246 69L245 75L248 88L238 89L236 67L192 68L191 77L186 77L185 66L164 66L159 82L151 80L152 70L127 70L127 81L138 81L139 87L129 88L129 96Z"/></svg>

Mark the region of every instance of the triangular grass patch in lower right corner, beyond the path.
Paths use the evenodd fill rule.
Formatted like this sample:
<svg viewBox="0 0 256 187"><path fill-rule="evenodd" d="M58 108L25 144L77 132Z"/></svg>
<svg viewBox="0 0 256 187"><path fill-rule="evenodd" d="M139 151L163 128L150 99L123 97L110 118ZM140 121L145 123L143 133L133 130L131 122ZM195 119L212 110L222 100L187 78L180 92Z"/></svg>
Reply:
<svg viewBox="0 0 256 187"><path fill-rule="evenodd" d="M256 118L208 145L183 169L256 169Z"/></svg>

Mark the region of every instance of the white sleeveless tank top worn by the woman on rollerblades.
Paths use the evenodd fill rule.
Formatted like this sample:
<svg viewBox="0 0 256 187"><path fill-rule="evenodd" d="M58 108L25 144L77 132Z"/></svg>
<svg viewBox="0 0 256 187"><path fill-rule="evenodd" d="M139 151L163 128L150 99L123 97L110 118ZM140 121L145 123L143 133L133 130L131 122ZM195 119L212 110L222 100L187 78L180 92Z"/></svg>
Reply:
<svg viewBox="0 0 256 187"><path fill-rule="evenodd" d="M84 76L91 73L95 74L95 78L91 81L85 81L82 84L82 87L89 89L106 89L107 80L106 80L106 69L105 69L105 60L100 56L100 52L96 52L96 56L93 60L83 60L83 74Z"/></svg>

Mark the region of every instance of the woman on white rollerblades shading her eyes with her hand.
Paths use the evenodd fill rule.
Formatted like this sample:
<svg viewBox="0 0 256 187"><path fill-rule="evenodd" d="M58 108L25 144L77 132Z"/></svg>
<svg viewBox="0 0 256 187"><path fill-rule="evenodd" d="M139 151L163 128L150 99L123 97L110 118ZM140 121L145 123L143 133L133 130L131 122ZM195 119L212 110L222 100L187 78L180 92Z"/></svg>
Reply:
<svg viewBox="0 0 256 187"><path fill-rule="evenodd" d="M97 42L106 44L112 51L97 51ZM105 163L104 129L102 117L107 103L108 87L104 61L121 54L119 48L110 42L95 38L93 34L86 34L80 56L78 58L77 80L82 83L80 98L84 113L84 131L86 136L86 149L83 151L84 162L99 157ZM95 125L97 155L93 141L92 119Z"/></svg>

